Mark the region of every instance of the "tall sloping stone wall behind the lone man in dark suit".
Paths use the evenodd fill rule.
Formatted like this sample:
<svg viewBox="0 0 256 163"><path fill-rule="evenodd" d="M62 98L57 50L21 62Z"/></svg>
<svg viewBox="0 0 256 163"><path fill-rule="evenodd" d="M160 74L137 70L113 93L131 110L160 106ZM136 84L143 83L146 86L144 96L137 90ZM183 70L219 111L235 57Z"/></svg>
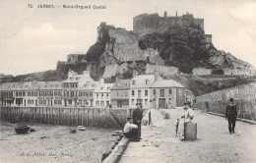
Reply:
<svg viewBox="0 0 256 163"><path fill-rule="evenodd" d="M229 98L234 99L239 118L256 120L256 82L197 96L194 106L208 112L224 114Z"/></svg>

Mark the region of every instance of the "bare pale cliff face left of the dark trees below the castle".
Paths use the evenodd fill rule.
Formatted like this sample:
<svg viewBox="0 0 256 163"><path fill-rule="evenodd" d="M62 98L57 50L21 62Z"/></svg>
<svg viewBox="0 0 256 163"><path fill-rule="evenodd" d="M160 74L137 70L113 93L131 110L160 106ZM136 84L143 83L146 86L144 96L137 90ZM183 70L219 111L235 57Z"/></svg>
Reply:
<svg viewBox="0 0 256 163"><path fill-rule="evenodd" d="M114 63L147 61L163 65L158 51L153 48L142 50L139 38L124 28L114 28L108 31L109 40L105 44L105 51L100 57L100 66ZM152 59L152 60L151 60Z"/></svg>

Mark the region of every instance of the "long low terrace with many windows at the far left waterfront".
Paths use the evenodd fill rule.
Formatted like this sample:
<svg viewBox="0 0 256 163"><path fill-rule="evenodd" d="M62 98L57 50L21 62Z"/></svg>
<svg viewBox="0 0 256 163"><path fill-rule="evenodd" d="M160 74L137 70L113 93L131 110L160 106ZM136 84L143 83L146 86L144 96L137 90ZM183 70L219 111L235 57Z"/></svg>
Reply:
<svg viewBox="0 0 256 163"><path fill-rule="evenodd" d="M61 81L6 82L0 84L1 105L61 106Z"/></svg>

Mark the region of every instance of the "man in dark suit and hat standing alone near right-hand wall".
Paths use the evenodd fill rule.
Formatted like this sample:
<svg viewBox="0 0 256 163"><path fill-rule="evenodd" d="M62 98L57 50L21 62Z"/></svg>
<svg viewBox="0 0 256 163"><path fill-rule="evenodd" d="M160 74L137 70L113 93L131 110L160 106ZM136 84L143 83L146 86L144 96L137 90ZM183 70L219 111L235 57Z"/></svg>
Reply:
<svg viewBox="0 0 256 163"><path fill-rule="evenodd" d="M234 133L235 121L237 118L237 109L236 106L233 104L233 99L230 98L228 101L228 106L225 108L225 120L228 121L228 130L229 134Z"/></svg>

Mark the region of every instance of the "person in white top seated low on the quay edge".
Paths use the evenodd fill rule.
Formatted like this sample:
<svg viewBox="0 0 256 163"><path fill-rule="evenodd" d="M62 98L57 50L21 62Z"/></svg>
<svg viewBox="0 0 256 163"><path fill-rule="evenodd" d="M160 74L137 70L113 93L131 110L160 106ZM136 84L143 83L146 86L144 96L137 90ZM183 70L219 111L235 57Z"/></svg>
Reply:
<svg viewBox="0 0 256 163"><path fill-rule="evenodd" d="M128 117L124 126L123 135L130 138L131 141L139 141L137 138L138 126L133 124L133 118Z"/></svg>

